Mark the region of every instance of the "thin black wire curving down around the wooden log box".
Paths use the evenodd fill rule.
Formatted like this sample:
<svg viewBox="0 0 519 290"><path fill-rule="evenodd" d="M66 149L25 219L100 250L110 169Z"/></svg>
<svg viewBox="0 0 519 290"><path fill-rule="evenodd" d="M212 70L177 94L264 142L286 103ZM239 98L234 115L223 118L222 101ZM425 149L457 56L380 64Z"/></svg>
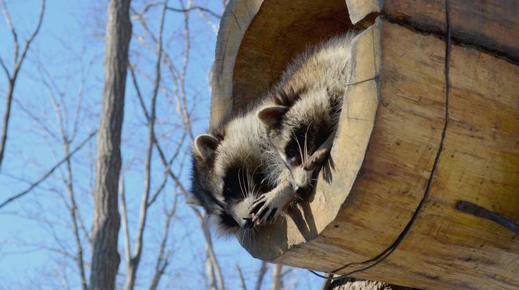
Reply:
<svg viewBox="0 0 519 290"><path fill-rule="evenodd" d="M365 266L364 268L360 268L354 271L350 271L348 273L345 273L343 275L339 275L336 277L332 277L331 275L329 277L321 275L319 273L316 273L315 271L308 270L313 275L316 275L320 278L327 279L327 280L338 280L341 278L346 278L349 275L352 275L354 273L359 273L365 270L368 270L369 268L372 268L373 266L379 264L380 262L384 261L386 257L388 257L393 251L399 246L399 244L402 242L404 237L409 233L409 230L411 230L411 227L413 223L416 220L416 217L418 216L418 213L420 210L422 210L423 205L425 204L425 200L427 200L427 197L429 196L429 193L431 191L431 185L432 180L434 176L436 175L436 170L438 169L438 162L440 160L441 152L443 151L443 140L445 139L445 131L447 130L447 121L449 120L449 94L450 94L450 80L449 80L449 65L450 65L450 44L451 44L451 27L450 27L450 0L445 0L445 22L447 25L447 45L445 47L445 122L443 124L443 130L441 134L440 139L440 146L438 146L438 153L436 154L436 157L434 159L433 169L431 171L431 176L429 176L429 180L427 180L427 186L425 187L425 193L424 196L422 196L422 200L418 204L418 207L416 207L415 212L413 213L413 216L411 216L411 220L409 223L407 223L406 228L399 234L397 239L384 250L382 253L377 255L377 257L374 257L372 259L368 259L364 262L354 262L346 264L345 266L342 266L336 270L333 270L333 272L338 272L342 270L343 268L347 268L347 266L351 266L353 264L366 264L370 262L374 262L373 264L370 264L369 266Z"/></svg>

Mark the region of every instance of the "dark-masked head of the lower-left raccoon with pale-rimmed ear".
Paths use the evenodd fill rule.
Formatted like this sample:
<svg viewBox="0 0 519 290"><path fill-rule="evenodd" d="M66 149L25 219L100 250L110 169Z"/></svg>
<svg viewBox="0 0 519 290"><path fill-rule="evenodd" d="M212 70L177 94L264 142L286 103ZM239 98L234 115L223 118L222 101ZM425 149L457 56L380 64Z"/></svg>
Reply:
<svg viewBox="0 0 519 290"><path fill-rule="evenodd" d="M254 227L249 208L263 194L264 176L257 162L240 160L230 142L211 135L199 135L193 146L192 191L197 205L203 206L217 232L236 234Z"/></svg>

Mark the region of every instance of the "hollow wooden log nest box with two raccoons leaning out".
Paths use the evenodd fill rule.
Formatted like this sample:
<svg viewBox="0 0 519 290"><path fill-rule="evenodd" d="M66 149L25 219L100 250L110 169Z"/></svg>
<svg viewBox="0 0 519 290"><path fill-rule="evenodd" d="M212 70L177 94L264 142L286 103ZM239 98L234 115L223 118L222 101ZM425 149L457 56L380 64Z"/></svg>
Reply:
<svg viewBox="0 0 519 290"><path fill-rule="evenodd" d="M211 123L262 96L306 46L364 30L331 165L308 201L254 244L242 241L254 257L340 274L392 249L353 276L427 289L519 288L518 234L481 210L456 209L468 201L519 221L519 4L450 1L450 37L445 7L230 1Z"/></svg>

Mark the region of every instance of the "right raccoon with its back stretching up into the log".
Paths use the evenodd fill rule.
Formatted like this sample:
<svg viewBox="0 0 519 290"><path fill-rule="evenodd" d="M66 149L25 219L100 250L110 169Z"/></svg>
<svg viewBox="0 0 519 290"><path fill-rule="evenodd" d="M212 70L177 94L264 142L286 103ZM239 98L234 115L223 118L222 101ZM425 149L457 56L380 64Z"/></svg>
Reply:
<svg viewBox="0 0 519 290"><path fill-rule="evenodd" d="M356 32L334 37L308 49L284 74L279 99L296 100L290 107L265 105L257 117L272 147L290 169L297 196L313 186L327 160L354 68L352 40Z"/></svg>

